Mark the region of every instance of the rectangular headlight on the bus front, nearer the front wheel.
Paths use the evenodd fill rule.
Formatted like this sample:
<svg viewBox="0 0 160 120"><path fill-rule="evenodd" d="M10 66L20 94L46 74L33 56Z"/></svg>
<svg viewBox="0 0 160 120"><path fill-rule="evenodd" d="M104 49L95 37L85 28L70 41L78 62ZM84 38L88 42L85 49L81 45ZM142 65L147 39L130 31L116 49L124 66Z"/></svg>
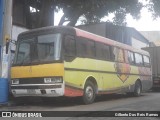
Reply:
<svg viewBox="0 0 160 120"><path fill-rule="evenodd" d="M62 77L44 78L44 83L62 83Z"/></svg>

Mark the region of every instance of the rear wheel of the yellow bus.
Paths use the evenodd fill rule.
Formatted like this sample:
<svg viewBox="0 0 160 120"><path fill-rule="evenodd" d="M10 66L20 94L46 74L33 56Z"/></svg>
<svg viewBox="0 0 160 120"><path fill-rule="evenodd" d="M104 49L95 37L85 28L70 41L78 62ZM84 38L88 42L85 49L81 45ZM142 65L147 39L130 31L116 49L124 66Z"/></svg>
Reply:
<svg viewBox="0 0 160 120"><path fill-rule="evenodd" d="M142 92L141 82L136 81L133 94L134 94L135 97L139 97L141 95L141 92Z"/></svg>

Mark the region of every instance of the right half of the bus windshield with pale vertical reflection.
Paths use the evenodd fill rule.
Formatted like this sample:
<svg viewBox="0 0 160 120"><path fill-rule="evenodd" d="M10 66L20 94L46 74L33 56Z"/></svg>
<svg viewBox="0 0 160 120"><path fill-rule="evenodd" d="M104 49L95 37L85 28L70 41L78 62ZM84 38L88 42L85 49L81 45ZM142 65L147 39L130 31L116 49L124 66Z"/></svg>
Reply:
<svg viewBox="0 0 160 120"><path fill-rule="evenodd" d="M60 34L50 34L38 37L38 60L41 62L60 59Z"/></svg>

